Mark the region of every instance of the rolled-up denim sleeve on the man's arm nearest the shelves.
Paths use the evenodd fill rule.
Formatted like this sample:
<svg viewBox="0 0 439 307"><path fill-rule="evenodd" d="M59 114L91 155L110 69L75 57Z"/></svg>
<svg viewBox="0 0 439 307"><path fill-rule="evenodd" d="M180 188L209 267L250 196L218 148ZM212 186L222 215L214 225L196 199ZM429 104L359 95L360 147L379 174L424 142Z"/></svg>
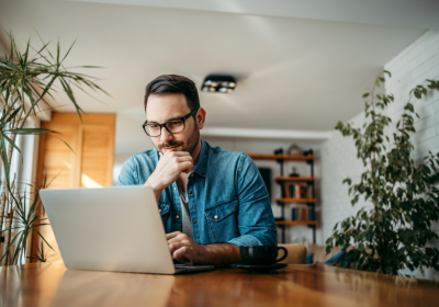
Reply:
<svg viewBox="0 0 439 307"><path fill-rule="evenodd" d="M238 193L237 224L240 236L229 243L240 246L277 246L277 228L270 197L254 160L241 154L236 178Z"/></svg>

